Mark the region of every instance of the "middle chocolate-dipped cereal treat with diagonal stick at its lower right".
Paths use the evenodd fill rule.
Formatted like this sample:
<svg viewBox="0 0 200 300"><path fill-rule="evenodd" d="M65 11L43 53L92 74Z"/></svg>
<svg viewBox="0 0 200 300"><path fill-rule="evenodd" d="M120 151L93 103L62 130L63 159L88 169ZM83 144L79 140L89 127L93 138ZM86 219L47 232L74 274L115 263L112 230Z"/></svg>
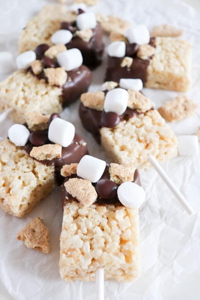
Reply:
<svg viewBox="0 0 200 300"><path fill-rule="evenodd" d="M121 79L120 86L106 82L104 91L83 94L79 115L113 162L148 169L149 155L160 163L177 155L177 139L154 103L131 88L138 80Z"/></svg>

